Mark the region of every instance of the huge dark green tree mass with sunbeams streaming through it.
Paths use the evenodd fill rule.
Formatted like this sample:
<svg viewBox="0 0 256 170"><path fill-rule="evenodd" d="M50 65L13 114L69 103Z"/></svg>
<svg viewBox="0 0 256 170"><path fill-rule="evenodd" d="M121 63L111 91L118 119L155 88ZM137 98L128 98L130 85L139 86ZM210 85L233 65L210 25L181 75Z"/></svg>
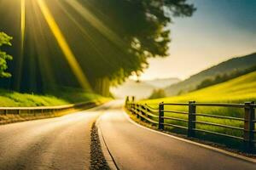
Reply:
<svg viewBox="0 0 256 170"><path fill-rule="evenodd" d="M0 7L0 30L15 37L14 48L9 50L15 56L9 65L13 77L2 85L34 92L44 91L49 84L79 86L37 2L26 1L24 20L20 20L20 1L5 1ZM172 18L191 16L195 11L186 0L44 2L56 23L55 31L61 31L93 88L104 86L99 80L123 82L146 69L149 58L168 56ZM26 21L24 38L20 36L22 21Z"/></svg>

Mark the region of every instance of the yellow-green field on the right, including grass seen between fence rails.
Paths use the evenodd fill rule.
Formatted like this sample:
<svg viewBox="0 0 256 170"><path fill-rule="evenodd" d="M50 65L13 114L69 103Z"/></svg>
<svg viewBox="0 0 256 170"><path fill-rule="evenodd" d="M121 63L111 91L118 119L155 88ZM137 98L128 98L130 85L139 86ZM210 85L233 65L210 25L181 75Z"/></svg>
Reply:
<svg viewBox="0 0 256 170"><path fill-rule="evenodd" d="M237 77L228 82L219 83L212 87L203 88L201 90L191 92L189 94L183 94L180 96L174 96L163 99L151 99L142 100L139 103L148 104L153 107L157 107L160 102L165 103L187 103L189 100L195 100L196 102L209 102L209 103L243 103L245 101L255 101L256 100L256 71L244 75L242 77ZM165 106L165 110L172 111L188 111L187 106ZM223 107L206 107L201 106L196 108L197 112L212 114L212 115L222 115L222 116L236 116L243 117L243 109L236 108L223 108ZM165 113L165 116L172 116L177 118L188 119L187 115L180 115L174 113ZM227 119L209 118L203 116L197 116L198 121L203 122L215 122L218 124L230 125L234 127L243 127L243 122L231 121ZM172 124L177 124L187 127L186 122L177 121L166 121ZM214 127L209 125L197 124L197 128L210 130L218 133L226 133L242 137L242 133L239 130L231 130L224 127ZM173 128L170 128L172 130ZM215 138L215 137L214 137ZM216 139L216 138L215 138ZM219 139L218 139L219 140Z"/></svg>

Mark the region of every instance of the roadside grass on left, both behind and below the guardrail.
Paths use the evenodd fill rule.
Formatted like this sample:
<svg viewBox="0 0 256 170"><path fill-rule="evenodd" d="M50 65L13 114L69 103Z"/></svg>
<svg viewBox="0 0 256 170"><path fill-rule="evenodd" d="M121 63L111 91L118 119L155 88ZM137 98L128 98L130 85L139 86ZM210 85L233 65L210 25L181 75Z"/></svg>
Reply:
<svg viewBox="0 0 256 170"><path fill-rule="evenodd" d="M13 91L0 89L0 107L36 107L36 106L55 106L69 105L81 102L95 102L96 105L108 102L110 99L97 94L91 94L79 88L59 87L48 94L21 94ZM85 108L84 108L85 109ZM80 109L68 111L58 111L53 113L21 112L20 114L0 114L0 124L12 122L23 122L29 120L63 116Z"/></svg>

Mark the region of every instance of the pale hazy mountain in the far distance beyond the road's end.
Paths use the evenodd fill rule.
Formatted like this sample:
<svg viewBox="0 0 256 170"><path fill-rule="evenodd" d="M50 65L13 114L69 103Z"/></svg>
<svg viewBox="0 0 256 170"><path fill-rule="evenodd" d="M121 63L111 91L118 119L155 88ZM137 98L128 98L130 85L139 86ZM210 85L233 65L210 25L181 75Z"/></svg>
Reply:
<svg viewBox="0 0 256 170"><path fill-rule="evenodd" d="M119 87L111 88L111 93L116 98L125 98L127 95L133 95L137 99L146 99L154 89L166 88L179 81L178 78L154 79L141 82L127 80Z"/></svg>

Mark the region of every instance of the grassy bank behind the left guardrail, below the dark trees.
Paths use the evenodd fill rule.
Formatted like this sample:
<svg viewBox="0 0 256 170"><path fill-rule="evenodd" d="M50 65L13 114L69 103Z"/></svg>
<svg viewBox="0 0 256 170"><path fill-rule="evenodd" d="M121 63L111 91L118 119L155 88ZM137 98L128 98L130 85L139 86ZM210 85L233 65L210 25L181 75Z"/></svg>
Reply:
<svg viewBox="0 0 256 170"><path fill-rule="evenodd" d="M105 100L99 95L88 94L77 88L58 88L50 94L20 94L0 90L0 107L67 105L90 100Z"/></svg>

